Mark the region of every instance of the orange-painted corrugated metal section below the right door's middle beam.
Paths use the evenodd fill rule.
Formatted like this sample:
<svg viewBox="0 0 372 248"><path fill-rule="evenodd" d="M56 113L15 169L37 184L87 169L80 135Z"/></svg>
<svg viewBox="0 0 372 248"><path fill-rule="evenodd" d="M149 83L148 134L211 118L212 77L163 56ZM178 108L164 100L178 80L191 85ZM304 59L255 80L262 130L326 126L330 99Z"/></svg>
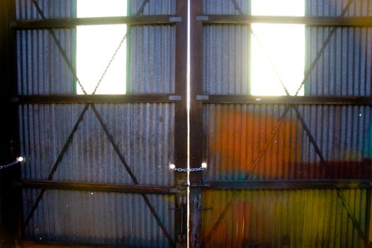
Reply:
<svg viewBox="0 0 372 248"><path fill-rule="evenodd" d="M288 165L300 159L297 147L302 135L293 115L288 115L269 149L254 163L282 113L283 106L205 106L208 169L204 179L242 180L246 173L254 179L293 177L288 174Z"/></svg>

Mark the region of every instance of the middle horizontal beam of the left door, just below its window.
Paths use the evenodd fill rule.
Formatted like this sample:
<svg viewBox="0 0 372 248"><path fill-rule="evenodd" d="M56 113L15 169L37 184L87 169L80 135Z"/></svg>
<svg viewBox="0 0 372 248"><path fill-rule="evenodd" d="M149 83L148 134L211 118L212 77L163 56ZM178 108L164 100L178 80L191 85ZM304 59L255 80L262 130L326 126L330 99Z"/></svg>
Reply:
<svg viewBox="0 0 372 248"><path fill-rule="evenodd" d="M13 103L171 103L181 96L171 94L120 94L120 95L32 95L12 98Z"/></svg>

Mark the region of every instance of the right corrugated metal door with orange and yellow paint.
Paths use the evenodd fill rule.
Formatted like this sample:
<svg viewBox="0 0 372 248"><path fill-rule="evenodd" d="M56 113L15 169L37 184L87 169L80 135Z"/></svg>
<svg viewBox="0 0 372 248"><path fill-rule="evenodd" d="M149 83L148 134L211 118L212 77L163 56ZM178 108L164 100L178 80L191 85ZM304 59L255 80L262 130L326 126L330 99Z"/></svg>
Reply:
<svg viewBox="0 0 372 248"><path fill-rule="evenodd" d="M369 247L371 4L250 4L191 1L191 247ZM250 94L252 22L307 25L305 96Z"/></svg>

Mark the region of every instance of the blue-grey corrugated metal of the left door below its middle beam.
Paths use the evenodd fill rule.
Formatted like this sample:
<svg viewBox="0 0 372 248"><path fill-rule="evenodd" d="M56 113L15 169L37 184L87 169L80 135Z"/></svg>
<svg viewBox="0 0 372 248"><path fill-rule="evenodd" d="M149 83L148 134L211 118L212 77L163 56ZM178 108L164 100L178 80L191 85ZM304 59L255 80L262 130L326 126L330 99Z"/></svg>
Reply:
<svg viewBox="0 0 372 248"><path fill-rule="evenodd" d="M171 186L174 172L174 106L104 104L98 112L140 184ZM83 106L28 105L20 109L23 179L45 179ZM55 172L54 180L133 184L89 109ZM24 191L24 215L37 197ZM174 198L149 196L173 236ZM26 230L28 239L168 247L141 196L47 191Z"/></svg>

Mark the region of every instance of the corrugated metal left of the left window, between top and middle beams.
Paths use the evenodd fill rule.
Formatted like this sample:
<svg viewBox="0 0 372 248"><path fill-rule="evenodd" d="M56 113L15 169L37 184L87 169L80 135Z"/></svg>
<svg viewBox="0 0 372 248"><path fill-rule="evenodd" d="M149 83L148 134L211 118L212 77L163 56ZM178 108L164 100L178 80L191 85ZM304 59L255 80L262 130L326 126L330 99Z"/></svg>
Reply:
<svg viewBox="0 0 372 248"><path fill-rule="evenodd" d="M76 30L53 30L67 56L74 58ZM74 79L47 30L17 31L18 94L72 94Z"/></svg>

